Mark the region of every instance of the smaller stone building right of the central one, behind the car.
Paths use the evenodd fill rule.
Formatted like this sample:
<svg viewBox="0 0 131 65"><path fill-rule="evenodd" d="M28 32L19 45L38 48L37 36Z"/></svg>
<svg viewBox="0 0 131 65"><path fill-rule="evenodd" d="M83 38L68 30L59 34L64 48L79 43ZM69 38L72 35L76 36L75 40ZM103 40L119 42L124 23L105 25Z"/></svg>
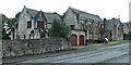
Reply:
<svg viewBox="0 0 131 65"><path fill-rule="evenodd" d="M123 27L119 18L105 20L105 35L109 40L122 40Z"/></svg>

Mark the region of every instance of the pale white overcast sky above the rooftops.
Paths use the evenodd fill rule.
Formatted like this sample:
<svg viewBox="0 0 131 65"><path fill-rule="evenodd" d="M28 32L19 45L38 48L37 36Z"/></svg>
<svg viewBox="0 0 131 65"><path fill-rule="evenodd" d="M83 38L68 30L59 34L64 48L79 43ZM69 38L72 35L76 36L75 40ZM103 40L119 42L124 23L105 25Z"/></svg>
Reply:
<svg viewBox="0 0 131 65"><path fill-rule="evenodd" d="M58 12L63 14L69 6L99 15L102 18L120 18L129 22L129 2L131 0L1 0L0 13L7 17L14 17L24 5L43 12Z"/></svg>

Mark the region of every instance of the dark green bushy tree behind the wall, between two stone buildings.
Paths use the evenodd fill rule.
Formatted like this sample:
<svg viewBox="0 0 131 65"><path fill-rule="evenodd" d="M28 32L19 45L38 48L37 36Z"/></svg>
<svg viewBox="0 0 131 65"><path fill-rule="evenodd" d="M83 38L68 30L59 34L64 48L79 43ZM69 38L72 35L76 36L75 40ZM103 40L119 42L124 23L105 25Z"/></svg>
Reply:
<svg viewBox="0 0 131 65"><path fill-rule="evenodd" d="M62 37L67 38L70 35L70 27L66 26L60 20L53 20L51 28L49 29L50 37Z"/></svg>

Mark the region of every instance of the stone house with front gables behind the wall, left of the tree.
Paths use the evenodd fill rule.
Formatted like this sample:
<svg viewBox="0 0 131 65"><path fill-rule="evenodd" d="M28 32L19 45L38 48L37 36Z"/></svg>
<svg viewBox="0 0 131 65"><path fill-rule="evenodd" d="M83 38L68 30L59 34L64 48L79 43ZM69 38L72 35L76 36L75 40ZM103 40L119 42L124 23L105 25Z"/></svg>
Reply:
<svg viewBox="0 0 131 65"><path fill-rule="evenodd" d="M55 18L61 20L57 14L24 6L12 26L11 39L40 39L48 37L48 29Z"/></svg>

